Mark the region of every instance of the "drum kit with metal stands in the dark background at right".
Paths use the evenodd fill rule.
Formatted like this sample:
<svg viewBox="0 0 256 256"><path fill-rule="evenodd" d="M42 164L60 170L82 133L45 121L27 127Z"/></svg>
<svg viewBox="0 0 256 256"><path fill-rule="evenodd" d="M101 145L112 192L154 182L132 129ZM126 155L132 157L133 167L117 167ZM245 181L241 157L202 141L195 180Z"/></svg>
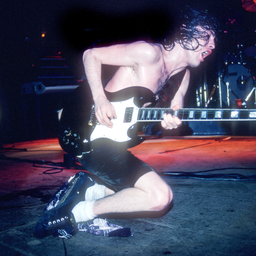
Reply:
<svg viewBox="0 0 256 256"><path fill-rule="evenodd" d="M242 3L248 2L253 4L250 3L251 7L247 6L250 10L245 10L256 12L256 1L243 0ZM233 27L240 25L236 23L236 19L228 19L226 24ZM252 40L254 45L250 45L252 42L246 42L247 36L242 36L241 40L239 33L236 33L237 29L229 30L233 31L233 45L229 48L228 54L222 54L222 68L219 67L218 81L213 87L207 105L214 91L218 91L220 108L256 108L256 41ZM256 30L253 33L256 37ZM248 47L244 46L246 44Z"/></svg>

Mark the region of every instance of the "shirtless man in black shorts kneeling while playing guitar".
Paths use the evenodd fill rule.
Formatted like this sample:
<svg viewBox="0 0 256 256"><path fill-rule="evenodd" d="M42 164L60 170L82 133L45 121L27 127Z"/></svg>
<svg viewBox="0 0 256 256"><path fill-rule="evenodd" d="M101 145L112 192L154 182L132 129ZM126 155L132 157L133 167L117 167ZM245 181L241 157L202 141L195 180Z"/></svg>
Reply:
<svg viewBox="0 0 256 256"><path fill-rule="evenodd" d="M105 87L108 92L142 86L157 94L167 79L186 69L179 90L174 95L170 106L173 110L183 108L183 99L190 77L187 67L199 66L215 47L215 20L204 12L194 11L189 15L185 15L185 21L179 25L174 39L172 41L165 39L164 44L140 41L94 48L84 52L83 62L86 78L95 103L95 115L101 125L112 129L111 119L118 118L114 106L108 101L103 90L102 64L120 66ZM191 22L192 20L194 23ZM196 20L198 20L197 23ZM199 26L199 21L201 26ZM193 26L189 22L193 23ZM191 33L193 33L193 37L188 36ZM181 125L181 121L176 116L164 114L161 124L166 130L175 129ZM100 185L98 190L94 191L94 194L98 193L99 196L87 196L86 199L85 195L86 200L76 204L72 210L75 222L88 221L106 213L161 211L171 203L173 197L171 188L150 166L128 154L127 151L120 153L115 149L104 148L99 149L98 155L95 151L97 150L85 153L79 161L85 170L91 171L107 183L109 181L108 184L116 189ZM110 159L112 155L113 158L117 157L119 165ZM101 160L102 157L106 159ZM94 163L91 165L91 162L98 164L101 161L103 162L100 167ZM114 178L109 174L101 173L102 169L115 173ZM115 175L120 173L122 177L116 178ZM106 175L109 176L106 178ZM127 181L132 180L132 177L137 177L137 179ZM110 180L111 182L114 180L114 183L111 183ZM46 217L47 221L49 219L50 217Z"/></svg>

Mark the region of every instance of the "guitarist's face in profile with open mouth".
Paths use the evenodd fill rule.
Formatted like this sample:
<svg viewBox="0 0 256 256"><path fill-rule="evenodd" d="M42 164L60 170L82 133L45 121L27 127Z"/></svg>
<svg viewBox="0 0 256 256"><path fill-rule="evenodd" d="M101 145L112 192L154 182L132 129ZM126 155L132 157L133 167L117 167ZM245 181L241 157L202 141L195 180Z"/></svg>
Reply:
<svg viewBox="0 0 256 256"><path fill-rule="evenodd" d="M202 29L202 28L199 28ZM209 41L204 39L198 39L199 47L195 51L188 50L189 54L189 66L198 67L204 59L212 53L215 48L214 38L215 34L212 30L206 30L205 34L209 35ZM197 47L198 43L194 40L192 42L193 47Z"/></svg>

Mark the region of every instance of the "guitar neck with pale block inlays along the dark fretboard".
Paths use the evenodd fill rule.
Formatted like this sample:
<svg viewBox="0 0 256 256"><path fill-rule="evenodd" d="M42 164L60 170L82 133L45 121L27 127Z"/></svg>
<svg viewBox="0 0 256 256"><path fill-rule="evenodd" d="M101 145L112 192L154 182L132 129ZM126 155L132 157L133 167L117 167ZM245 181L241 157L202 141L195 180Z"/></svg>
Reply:
<svg viewBox="0 0 256 256"><path fill-rule="evenodd" d="M256 109L198 109L181 108L173 111L170 108L140 108L138 121L162 121L163 114L171 114L181 121L245 121L256 120Z"/></svg>

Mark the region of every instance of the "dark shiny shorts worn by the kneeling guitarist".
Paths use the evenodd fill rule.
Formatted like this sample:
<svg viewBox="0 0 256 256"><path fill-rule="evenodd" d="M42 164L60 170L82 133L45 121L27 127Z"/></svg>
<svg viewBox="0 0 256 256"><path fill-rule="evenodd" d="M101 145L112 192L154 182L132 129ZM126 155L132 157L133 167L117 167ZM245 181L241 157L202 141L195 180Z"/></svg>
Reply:
<svg viewBox="0 0 256 256"><path fill-rule="evenodd" d="M134 187L136 181L145 173L154 171L152 167L135 157L128 150L110 146L93 149L85 153L79 162L116 191Z"/></svg>

